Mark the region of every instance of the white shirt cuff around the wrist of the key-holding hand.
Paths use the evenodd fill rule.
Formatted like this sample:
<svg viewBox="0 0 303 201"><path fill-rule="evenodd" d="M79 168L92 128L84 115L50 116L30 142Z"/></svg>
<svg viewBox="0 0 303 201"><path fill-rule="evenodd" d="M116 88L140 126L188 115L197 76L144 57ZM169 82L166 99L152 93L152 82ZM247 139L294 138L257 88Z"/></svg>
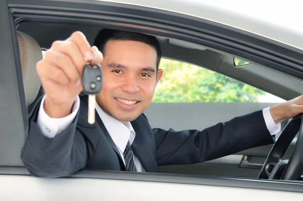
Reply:
<svg viewBox="0 0 303 201"><path fill-rule="evenodd" d="M66 129L72 121L75 119L77 112L80 106L80 98L77 96L75 98L74 105L72 107L72 113L63 118L51 118L49 117L43 108L45 95L42 97L37 124L40 127L42 134L46 137L53 138L58 133L61 133L64 129Z"/></svg>

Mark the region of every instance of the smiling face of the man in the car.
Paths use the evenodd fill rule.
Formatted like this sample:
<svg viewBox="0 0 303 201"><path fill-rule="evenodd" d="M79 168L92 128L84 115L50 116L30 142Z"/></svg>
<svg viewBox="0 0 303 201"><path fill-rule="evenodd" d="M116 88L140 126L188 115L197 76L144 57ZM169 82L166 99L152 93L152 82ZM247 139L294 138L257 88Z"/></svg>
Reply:
<svg viewBox="0 0 303 201"><path fill-rule="evenodd" d="M149 106L163 74L157 74L156 49L131 40L109 40L105 49L97 103L120 122L133 121Z"/></svg>

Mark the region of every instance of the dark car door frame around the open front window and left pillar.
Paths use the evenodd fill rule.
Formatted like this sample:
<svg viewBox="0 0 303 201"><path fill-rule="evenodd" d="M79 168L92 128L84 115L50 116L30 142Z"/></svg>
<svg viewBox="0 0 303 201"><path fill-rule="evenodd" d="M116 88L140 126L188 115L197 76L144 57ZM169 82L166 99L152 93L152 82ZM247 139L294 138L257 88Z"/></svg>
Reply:
<svg viewBox="0 0 303 201"><path fill-rule="evenodd" d="M8 4L9 3L9 4ZM52 4L51 4L52 3ZM52 7L51 7L52 6ZM68 12L64 8L69 8ZM97 11L100 9L99 13L89 13L87 10L94 10ZM111 11L112 13L108 12L107 14L102 13L102 10L105 9L107 11ZM116 9L116 10L115 10ZM79 12L81 10L81 12ZM114 11L119 13L113 13ZM137 12L136 17L133 22L133 25L136 27L131 27L130 25L132 21L129 19L125 19L125 14L133 13L134 11ZM169 30L164 31L165 27L163 26L163 22L158 19L158 26L155 25L156 21L153 21L150 24L145 24L143 26L144 20L138 22L140 15L147 15L155 16L155 14L162 15L163 19L166 20L175 20L172 16L178 16L181 20L179 23L186 23L191 22L192 25L203 25L204 29L202 30L201 27L199 30L187 30L187 27L181 27L180 24L178 26L173 26L176 22L166 21L166 26ZM43 14L43 15L42 15ZM124 15L123 15L124 14ZM226 27L222 28L222 25L215 24L213 22L206 22L201 19L194 19L188 16L182 16L180 14L175 13L165 13L163 14L157 9L151 8L141 8L136 6L129 6L127 8L123 8L121 5L117 3L109 3L109 2L95 2L90 4L85 4L83 1L37 1L37 0L29 0L27 2L19 1L19 0L7 0L0 3L0 26L3 28L1 30L1 38L0 42L2 44L2 48L0 49L0 59L2 59L2 63L0 64L0 80L2 90L0 91L0 108L1 114L5 112L6 117L2 118L0 121L0 127L4 128L4 132L0 135L1 139L10 139L12 138L11 135L17 135L16 133L23 135L28 128L27 122L27 107L26 107L26 99L24 93L24 85L22 81L22 70L21 70L21 62L20 62L20 55L18 49L18 43L16 38L16 26L18 23L22 21L26 21L29 19L35 20L58 20L59 18L69 19L71 22L73 21L72 17L75 16L82 16L81 22L82 23L92 23L90 20L93 17L95 22L102 25L106 25L109 27L117 27L120 29L125 30L134 30L134 31L141 31L148 34L157 34L164 37L174 37L176 39L192 41L197 44L202 44L204 46L209 46L211 48L219 49L220 51L227 52L229 54L237 55L239 57L247 57L250 56L251 61L255 61L257 63L261 63L262 65L275 68L276 70L280 70L283 72L288 72L293 76L298 78L303 78L303 58L299 61L297 60L298 54L301 54L300 51L294 50L293 48L289 47L289 49L285 47L279 47L279 53L271 52L271 48L277 46L276 41L273 43L269 43L268 41L262 41L257 38L253 38L251 36L247 36L242 34L240 38L246 38L247 41L242 42L242 44L238 44L238 39L235 41L230 40L232 34L235 34L233 37L237 37L239 32L235 32L233 30L226 29ZM64 16L64 17L62 17ZM113 17L112 24L107 24L106 22L102 21L105 17ZM181 17L180 17L181 16ZM162 20L163 20L162 19ZM119 21L120 20L120 21ZM178 20L178 19L177 19ZM117 25L117 21L119 25ZM123 24L128 22L127 25ZM116 24L113 24L116 23ZM168 26L169 24L170 26ZM140 25L140 26L139 26ZM149 28L148 28L149 27ZM151 29L153 27L153 29ZM161 29L160 29L161 28ZM216 35L216 31L221 32L221 35L226 34L226 38L218 38ZM212 34L211 34L211 33ZM217 36L217 37L216 37ZM247 37L244 37L247 36ZM254 43L254 51L251 50L250 43ZM265 44L264 44L265 43ZM268 44L266 44L268 43ZM260 44L262 47L262 52L258 52L258 48L256 48L257 44ZM240 45L237 46L237 45ZM264 47L265 45L265 47ZM241 51L237 51L235 49L241 49ZM245 48L246 47L246 48ZM281 53L285 51L292 51L293 59L289 59L291 55L287 53L285 55L285 60L281 58ZM252 54L254 53L254 54ZM271 53L271 60L266 59L266 56ZM262 57L261 57L262 56ZM286 60L287 57L287 60ZM274 67L272 64L275 63ZM12 79L15 78L15 79ZM14 107L12 107L14 106ZM21 111L21 112L20 112ZM18 136L16 136L18 137ZM11 145L8 141L8 144ZM19 145L14 144L14 149L16 146ZM0 147L0 150L5 150L6 153L0 155L0 157L10 157L10 151L13 148L9 149L8 146ZM13 152L13 151L12 151ZM27 178L29 180L35 180L36 182L44 182L47 186L48 181L44 179L37 179L30 177L28 172L22 166L15 166L14 164L7 164L5 167L0 167L0 177L2 179L9 179L9 175L12 178L16 178L19 176L18 179ZM136 181L142 182L156 182L156 183L166 183L166 184L193 184L199 186L225 186L225 187L237 187L238 190L240 188L245 189L263 189L263 190L279 190L283 192L291 191L291 192L303 192L303 184L298 182L282 182L282 181L266 181L266 180L254 180L254 179L235 179L235 178L215 178L215 177L203 177L203 176L188 176L188 175L168 175L168 174L156 174L156 173L126 173L126 172L112 172L112 171L80 171L74 175L72 175L68 180L73 179L84 179L87 178L89 180L98 179L100 182L104 179L110 180L119 180L119 181L132 181L135 183ZM17 181L16 180L16 181ZM58 179L58 181L49 180L49 185L52 182L59 184L59 182L64 181L64 178ZM24 183L23 183L24 184ZM4 186L1 184L3 188L1 189L8 189L9 186ZM60 184L60 186L62 186ZM66 186L68 188L68 186ZM61 189L65 190L65 189ZM87 190L87 189L86 189ZM47 188L43 189L44 192L47 192ZM199 194L199 192L196 192ZM224 197L224 195L222 195Z"/></svg>

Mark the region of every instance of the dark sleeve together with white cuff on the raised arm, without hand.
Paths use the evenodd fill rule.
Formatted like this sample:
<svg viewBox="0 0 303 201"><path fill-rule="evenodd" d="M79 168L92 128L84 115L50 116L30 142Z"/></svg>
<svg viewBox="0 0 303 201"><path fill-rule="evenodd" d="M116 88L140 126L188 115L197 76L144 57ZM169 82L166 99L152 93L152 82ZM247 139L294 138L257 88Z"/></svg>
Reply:
<svg viewBox="0 0 303 201"><path fill-rule="evenodd" d="M80 103L78 100L74 104L74 111L71 114L74 118L71 118L66 125L56 125L56 121L51 121L54 119L43 113L43 103L41 103L43 97L38 100L29 115L29 127L25 136L21 159L33 176L69 176L83 169L86 165L87 156L90 155L87 153L85 143L87 138L76 127ZM49 119L41 118L43 114ZM55 120L60 122L60 119ZM54 127L55 132L46 132L46 130L49 131L48 129L54 131ZM45 128L48 129L45 130Z"/></svg>

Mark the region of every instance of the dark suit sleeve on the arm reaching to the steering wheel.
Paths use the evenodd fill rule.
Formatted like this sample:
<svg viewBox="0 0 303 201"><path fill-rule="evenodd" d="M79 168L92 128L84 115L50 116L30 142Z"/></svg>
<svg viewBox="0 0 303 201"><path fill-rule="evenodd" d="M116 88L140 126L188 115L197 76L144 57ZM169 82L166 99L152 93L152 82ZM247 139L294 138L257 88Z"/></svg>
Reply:
<svg viewBox="0 0 303 201"><path fill-rule="evenodd" d="M153 132L159 166L209 161L275 142L275 136L271 136L266 127L262 110L202 131L155 128Z"/></svg>

